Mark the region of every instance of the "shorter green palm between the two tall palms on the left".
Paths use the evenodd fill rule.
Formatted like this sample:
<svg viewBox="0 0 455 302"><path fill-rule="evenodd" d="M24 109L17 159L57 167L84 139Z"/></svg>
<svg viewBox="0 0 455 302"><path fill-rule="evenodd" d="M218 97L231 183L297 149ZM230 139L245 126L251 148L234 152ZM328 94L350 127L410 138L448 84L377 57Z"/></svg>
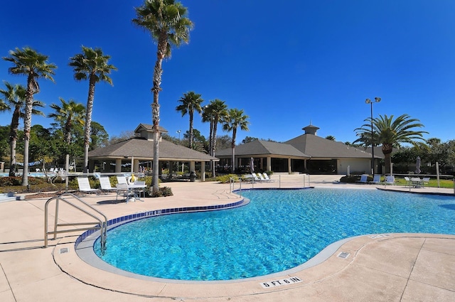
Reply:
<svg viewBox="0 0 455 302"><path fill-rule="evenodd" d="M54 109L55 112L48 114L48 117L52 117L55 122L63 129L66 144L71 143L71 133L75 124L84 124L85 106L82 103L75 102L74 99L70 99L68 103L59 97L62 106L58 104L50 104L50 108Z"/></svg>

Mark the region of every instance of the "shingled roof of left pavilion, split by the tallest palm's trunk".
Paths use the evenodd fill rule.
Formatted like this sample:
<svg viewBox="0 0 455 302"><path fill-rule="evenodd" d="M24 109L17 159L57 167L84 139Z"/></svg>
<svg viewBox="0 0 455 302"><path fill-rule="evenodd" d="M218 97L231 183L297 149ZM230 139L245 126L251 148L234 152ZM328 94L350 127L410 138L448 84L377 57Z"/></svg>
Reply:
<svg viewBox="0 0 455 302"><path fill-rule="evenodd" d="M154 157L154 142L142 137L134 137L92 150L88 156L90 159L124 158L125 156L151 159ZM219 161L213 156L165 140L159 143L159 159L160 161Z"/></svg>

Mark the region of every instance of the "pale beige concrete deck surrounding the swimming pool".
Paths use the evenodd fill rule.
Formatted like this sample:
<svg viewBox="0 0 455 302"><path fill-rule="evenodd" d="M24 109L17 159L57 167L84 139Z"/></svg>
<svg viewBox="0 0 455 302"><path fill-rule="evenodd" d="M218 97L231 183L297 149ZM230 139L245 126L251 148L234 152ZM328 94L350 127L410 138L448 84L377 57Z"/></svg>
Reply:
<svg viewBox="0 0 455 302"><path fill-rule="evenodd" d="M341 176L311 176L316 188L401 190L454 194L453 189L336 183ZM274 176L271 183L242 183L242 189L302 185L301 176ZM164 183L173 196L117 203L115 194L82 199L108 219L148 210L219 205L240 200L230 185ZM234 188L239 188L235 183ZM455 197L454 197L455 198ZM320 264L281 276L203 284L147 281L102 271L74 249L81 232L60 234L43 247L48 199L0 203L0 301L455 301L455 236L444 234L365 235L343 242ZM453 210L453 209L452 209ZM61 221L82 215L60 207ZM68 252L67 249L68 248ZM335 251L335 252L334 252ZM339 257L344 252L346 258ZM127 257L127 255L125 255ZM324 257L324 258L325 258ZM287 281L283 281L286 279ZM289 282L289 283L287 283ZM264 285L265 284L265 285ZM265 286L265 287L264 287Z"/></svg>

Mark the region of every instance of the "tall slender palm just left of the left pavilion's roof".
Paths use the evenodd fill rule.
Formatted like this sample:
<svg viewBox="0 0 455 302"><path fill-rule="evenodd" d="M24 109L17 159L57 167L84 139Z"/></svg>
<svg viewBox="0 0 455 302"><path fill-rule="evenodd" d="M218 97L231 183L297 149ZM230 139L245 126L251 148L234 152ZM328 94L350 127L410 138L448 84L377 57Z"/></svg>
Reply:
<svg viewBox="0 0 455 302"><path fill-rule="evenodd" d="M95 99L95 85L97 82L107 82L112 85L109 74L117 70L108 63L110 55L103 55L101 48L82 46L82 53L70 58L70 66L74 68L74 78L77 81L88 79L88 97L85 112L84 126L84 173L88 171L88 151L90 147L90 133L92 126L93 100Z"/></svg>

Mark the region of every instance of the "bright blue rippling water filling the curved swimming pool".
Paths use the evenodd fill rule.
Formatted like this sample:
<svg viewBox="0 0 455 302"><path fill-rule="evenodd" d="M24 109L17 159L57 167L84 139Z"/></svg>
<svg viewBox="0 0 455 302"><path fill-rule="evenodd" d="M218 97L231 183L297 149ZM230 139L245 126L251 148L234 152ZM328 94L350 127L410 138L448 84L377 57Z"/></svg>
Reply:
<svg viewBox="0 0 455 302"><path fill-rule="evenodd" d="M231 280L308 261L329 244L361 234L455 234L455 198L381 190L250 190L231 210L164 215L107 234L97 255L145 276Z"/></svg>

